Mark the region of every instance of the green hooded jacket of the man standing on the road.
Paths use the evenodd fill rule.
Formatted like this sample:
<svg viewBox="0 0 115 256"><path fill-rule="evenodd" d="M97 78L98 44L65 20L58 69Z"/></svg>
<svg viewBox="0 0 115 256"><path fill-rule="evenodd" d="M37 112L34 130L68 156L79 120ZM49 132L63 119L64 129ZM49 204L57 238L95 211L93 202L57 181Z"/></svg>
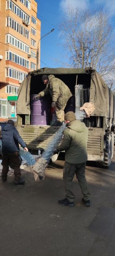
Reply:
<svg viewBox="0 0 115 256"><path fill-rule="evenodd" d="M63 139L58 146L59 151L65 150L65 161L71 164L87 161L88 129L80 120L67 124Z"/></svg>

